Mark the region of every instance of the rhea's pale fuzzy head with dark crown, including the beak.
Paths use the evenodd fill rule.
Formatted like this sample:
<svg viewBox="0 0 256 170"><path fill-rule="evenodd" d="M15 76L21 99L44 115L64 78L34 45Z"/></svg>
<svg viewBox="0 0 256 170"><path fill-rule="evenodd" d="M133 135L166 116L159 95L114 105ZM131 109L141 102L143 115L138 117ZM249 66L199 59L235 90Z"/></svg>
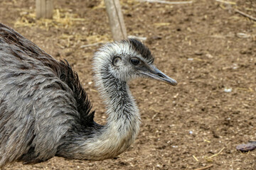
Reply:
<svg viewBox="0 0 256 170"><path fill-rule="evenodd" d="M136 39L110 42L95 53L94 67L97 80L104 77L127 82L134 78L150 78L164 81L172 86L171 79L154 65L154 56L148 47Z"/></svg>

